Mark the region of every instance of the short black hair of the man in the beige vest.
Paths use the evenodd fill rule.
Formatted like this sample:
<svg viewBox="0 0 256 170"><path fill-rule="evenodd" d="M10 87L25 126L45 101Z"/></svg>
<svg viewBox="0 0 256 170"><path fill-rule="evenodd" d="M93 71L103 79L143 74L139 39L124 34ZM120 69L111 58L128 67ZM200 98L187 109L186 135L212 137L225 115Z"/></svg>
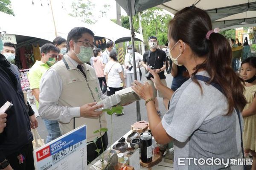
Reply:
<svg viewBox="0 0 256 170"><path fill-rule="evenodd" d="M84 33L90 34L91 36L93 36L93 38L95 37L93 31L91 31L90 29L85 27L75 27L67 34L67 51L70 50L70 40L77 41L79 38L82 37L82 34Z"/></svg>

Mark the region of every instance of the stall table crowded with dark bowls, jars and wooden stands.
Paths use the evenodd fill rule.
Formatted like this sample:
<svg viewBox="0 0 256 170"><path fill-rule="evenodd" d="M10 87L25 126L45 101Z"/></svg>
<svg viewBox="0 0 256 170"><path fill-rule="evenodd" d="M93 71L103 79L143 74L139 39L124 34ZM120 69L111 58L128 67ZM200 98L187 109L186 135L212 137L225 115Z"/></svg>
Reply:
<svg viewBox="0 0 256 170"><path fill-rule="evenodd" d="M142 125L143 124L143 125ZM115 170L121 170L120 167L127 168L127 170L173 170L173 148L169 149L167 145L159 145L151 136L151 131L148 129L148 122L140 121L131 125L132 130L129 130L118 141L114 142L104 154L88 164L88 170L99 170L101 166L102 156L107 161L111 159L111 163L116 161ZM145 163L142 161L143 156L143 133L148 133L150 136L151 161ZM136 148L136 144L138 144ZM135 148L134 148L135 147ZM148 151L148 150L147 150ZM115 154L117 160L114 159ZM109 155L111 155L109 157ZM123 158L122 158L123 156ZM150 157L150 156L149 156Z"/></svg>

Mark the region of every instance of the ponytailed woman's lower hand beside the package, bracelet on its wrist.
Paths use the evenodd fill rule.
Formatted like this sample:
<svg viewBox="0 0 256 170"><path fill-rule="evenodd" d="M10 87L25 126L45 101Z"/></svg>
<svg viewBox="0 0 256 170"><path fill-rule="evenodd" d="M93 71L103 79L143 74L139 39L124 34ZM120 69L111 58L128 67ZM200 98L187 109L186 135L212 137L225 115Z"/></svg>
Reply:
<svg viewBox="0 0 256 170"><path fill-rule="evenodd" d="M137 95L140 96L140 98L142 98L144 100L154 98L153 89L148 84L148 82L145 82L144 85L143 85L140 82L138 82L137 80L134 80L134 82L132 82L131 88L135 91L135 93Z"/></svg>

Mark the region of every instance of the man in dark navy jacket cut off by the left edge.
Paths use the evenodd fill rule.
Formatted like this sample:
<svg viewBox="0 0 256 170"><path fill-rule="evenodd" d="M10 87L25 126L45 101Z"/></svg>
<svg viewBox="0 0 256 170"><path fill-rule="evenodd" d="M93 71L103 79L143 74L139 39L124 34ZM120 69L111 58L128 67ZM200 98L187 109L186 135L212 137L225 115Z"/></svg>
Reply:
<svg viewBox="0 0 256 170"><path fill-rule="evenodd" d="M0 51L2 49L3 43L0 39ZM0 134L0 169L35 170L29 120L29 116L34 112L31 107L28 109L26 106L20 77L12 66L6 57L0 54L0 106L7 101L13 104L6 111L6 127Z"/></svg>

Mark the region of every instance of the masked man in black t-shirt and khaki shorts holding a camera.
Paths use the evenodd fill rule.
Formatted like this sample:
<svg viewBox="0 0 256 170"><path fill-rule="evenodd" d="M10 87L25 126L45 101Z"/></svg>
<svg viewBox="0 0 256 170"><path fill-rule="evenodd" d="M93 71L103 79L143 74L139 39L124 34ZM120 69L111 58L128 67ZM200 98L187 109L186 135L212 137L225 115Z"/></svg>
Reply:
<svg viewBox="0 0 256 170"><path fill-rule="evenodd" d="M166 85L166 77L164 75L165 71L165 61L166 61L166 53L163 50L157 49L157 37L151 36L148 38L148 44L150 46L150 50L146 51L143 54L143 67L148 70L148 67L151 67L160 77L161 82L163 85ZM146 74L147 82L151 85L154 91L154 102L155 102L155 107L157 109L158 115L160 115L159 111L159 105L157 101L157 89L154 87L154 82L150 79L153 77L149 72ZM169 99L165 98L163 94L160 92L158 93L159 97L163 98L163 104L168 110L168 103Z"/></svg>

